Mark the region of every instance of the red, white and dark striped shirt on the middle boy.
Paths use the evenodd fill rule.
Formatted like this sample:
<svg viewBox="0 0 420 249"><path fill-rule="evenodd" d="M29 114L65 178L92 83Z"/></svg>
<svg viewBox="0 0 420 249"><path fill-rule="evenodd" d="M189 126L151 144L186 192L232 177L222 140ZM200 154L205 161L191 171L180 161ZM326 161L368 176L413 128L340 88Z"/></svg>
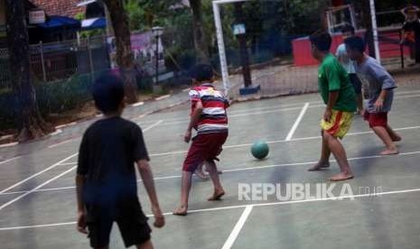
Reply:
<svg viewBox="0 0 420 249"><path fill-rule="evenodd" d="M201 101L203 107L199 123L195 127L198 134L228 132L229 125L226 108L229 107L229 101L219 90L216 90L211 84L193 87L190 91L190 99L191 115L197 102Z"/></svg>

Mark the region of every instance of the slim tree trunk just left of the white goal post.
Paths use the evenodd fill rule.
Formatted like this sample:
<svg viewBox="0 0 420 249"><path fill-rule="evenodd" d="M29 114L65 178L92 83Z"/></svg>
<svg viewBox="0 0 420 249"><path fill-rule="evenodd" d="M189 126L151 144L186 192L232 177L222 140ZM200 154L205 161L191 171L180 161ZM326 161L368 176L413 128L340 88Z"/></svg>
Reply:
<svg viewBox="0 0 420 249"><path fill-rule="evenodd" d="M202 26L201 0L190 0L194 46L199 63L209 63L209 45Z"/></svg>

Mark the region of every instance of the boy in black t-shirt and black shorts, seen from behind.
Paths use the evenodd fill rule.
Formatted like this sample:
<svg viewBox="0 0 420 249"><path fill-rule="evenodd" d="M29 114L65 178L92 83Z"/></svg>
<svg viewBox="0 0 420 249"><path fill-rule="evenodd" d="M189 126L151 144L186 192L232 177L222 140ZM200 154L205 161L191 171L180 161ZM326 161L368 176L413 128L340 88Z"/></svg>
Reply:
<svg viewBox="0 0 420 249"><path fill-rule="evenodd" d="M89 234L93 248L107 248L112 225L117 222L126 247L153 248L151 229L137 197L134 163L152 204L154 226L164 226L164 217L142 130L121 117L124 109L121 79L111 73L98 78L93 98L105 117L90 125L79 148L78 230Z"/></svg>

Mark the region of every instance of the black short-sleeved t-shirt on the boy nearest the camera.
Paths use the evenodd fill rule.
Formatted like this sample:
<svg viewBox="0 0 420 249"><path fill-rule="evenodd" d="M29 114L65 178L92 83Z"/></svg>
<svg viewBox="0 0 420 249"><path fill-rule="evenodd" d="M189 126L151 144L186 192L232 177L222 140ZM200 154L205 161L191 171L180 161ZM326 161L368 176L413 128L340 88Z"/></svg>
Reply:
<svg viewBox="0 0 420 249"><path fill-rule="evenodd" d="M92 124L79 148L77 173L86 176L87 204L114 204L137 197L135 161L147 160L140 127L121 117Z"/></svg>

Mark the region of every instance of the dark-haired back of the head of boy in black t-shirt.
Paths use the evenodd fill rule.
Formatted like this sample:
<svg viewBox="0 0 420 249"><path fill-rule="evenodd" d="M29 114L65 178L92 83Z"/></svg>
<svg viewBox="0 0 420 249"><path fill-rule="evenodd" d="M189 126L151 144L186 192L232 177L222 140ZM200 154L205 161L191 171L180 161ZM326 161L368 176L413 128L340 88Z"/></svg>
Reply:
<svg viewBox="0 0 420 249"><path fill-rule="evenodd" d="M92 95L95 105L102 113L115 113L124 100L123 81L114 73L106 72L95 81Z"/></svg>

